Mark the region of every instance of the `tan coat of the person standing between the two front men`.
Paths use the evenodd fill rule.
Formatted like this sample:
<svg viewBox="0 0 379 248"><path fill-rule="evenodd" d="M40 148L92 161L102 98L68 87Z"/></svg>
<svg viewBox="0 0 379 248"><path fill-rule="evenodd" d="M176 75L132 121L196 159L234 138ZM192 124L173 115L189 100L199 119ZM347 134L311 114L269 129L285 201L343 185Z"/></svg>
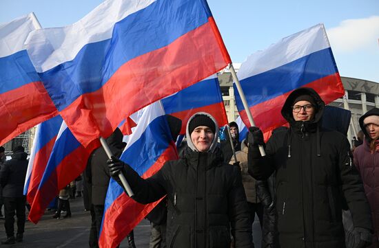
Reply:
<svg viewBox="0 0 379 248"><path fill-rule="evenodd" d="M246 199L249 203L259 203L258 196L256 195L256 179L252 177L247 167L247 151L249 149L244 142L241 144L241 150L236 153L237 161L239 162L240 172L242 175L243 188L245 189ZM234 157L230 160L229 164L234 164Z"/></svg>

